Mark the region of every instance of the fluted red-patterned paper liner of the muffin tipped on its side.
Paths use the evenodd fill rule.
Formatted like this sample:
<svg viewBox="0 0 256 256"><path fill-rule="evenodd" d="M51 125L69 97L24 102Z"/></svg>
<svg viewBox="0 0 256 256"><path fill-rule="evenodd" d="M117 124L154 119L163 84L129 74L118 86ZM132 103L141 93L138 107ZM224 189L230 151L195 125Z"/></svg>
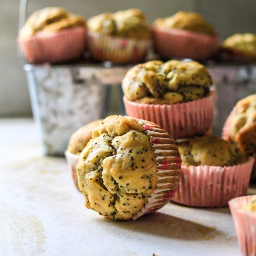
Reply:
<svg viewBox="0 0 256 256"><path fill-rule="evenodd" d="M175 194L181 175L181 157L174 140L159 125L144 120L138 121L154 150L157 180L147 204L132 217L133 220L167 204Z"/></svg>

